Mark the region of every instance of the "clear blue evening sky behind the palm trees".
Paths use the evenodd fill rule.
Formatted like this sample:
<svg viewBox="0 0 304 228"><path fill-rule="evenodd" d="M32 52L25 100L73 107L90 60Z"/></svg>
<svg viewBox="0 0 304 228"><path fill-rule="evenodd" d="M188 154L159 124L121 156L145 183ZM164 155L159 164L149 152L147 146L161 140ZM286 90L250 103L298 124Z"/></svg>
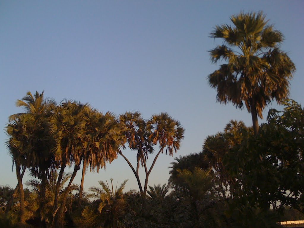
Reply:
<svg viewBox="0 0 304 228"><path fill-rule="evenodd" d="M163 111L178 119L185 139L175 156L196 153L206 136L223 130L230 119L251 125L246 110L216 103L206 77L208 50L220 40L208 38L217 24L230 23L241 11L259 11L285 35L297 71L291 98L303 103L303 1L4 1L0 2L0 185L17 183L4 146L8 116L27 91L47 97L89 102L117 115L139 110L144 118ZM278 108L275 103L269 108ZM260 120L264 121L264 120ZM135 154L125 151L133 163ZM174 157L161 154L149 185L164 184ZM149 164L151 164L150 156ZM75 181L80 182L79 171ZM143 174L143 172L142 172ZM98 180L136 188L122 157L106 171L87 171L85 188ZM143 176L142 176L143 177ZM25 177L27 180L29 177Z"/></svg>

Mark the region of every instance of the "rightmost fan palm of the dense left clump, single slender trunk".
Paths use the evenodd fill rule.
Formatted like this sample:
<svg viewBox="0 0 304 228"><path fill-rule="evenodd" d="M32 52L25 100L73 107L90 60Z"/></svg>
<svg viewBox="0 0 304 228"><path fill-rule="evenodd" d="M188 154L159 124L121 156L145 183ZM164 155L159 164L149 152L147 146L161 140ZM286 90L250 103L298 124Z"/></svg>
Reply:
<svg viewBox="0 0 304 228"><path fill-rule="evenodd" d="M81 206L83 184L86 166L95 169L105 167L105 163L111 163L117 158L122 146L123 128L118 119L111 112L103 114L97 110L87 109L82 113L79 123L78 138L82 141L84 151L81 185L78 206Z"/></svg>

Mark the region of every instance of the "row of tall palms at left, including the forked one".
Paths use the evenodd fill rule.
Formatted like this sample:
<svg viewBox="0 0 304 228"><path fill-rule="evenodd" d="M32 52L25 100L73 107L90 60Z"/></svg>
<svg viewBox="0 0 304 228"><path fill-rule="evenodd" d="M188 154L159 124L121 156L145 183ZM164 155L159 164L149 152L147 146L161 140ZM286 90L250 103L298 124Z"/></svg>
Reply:
<svg viewBox="0 0 304 228"><path fill-rule="evenodd" d="M138 150L135 172L138 181L139 162L141 161L145 167L144 191L139 181L140 192L145 194L148 177L158 155L164 150L171 155L174 150L176 152L184 133L180 123L167 113L154 115L151 119L145 120L139 112L126 112L118 118L111 112L103 114L89 104L67 100L56 104L52 99L45 99L43 92L36 92L34 95L28 92L22 100L17 100L16 105L24 107L26 112L9 117L10 122L6 126L9 139L6 143L16 165L21 223L25 222L22 176L26 169L41 181L40 205L37 209L37 216L40 217L45 204L48 180L59 170L54 189L52 221L53 226L58 227L63 224L67 195L81 164L79 207L86 168L90 167L98 171L105 167L107 162L116 159L118 154L123 156L122 148L125 148L124 144L128 142L131 149ZM157 144L160 150L147 171L147 154L152 154ZM133 169L130 161L127 159L126 161ZM59 205L60 183L65 168L70 165L74 165L74 170Z"/></svg>

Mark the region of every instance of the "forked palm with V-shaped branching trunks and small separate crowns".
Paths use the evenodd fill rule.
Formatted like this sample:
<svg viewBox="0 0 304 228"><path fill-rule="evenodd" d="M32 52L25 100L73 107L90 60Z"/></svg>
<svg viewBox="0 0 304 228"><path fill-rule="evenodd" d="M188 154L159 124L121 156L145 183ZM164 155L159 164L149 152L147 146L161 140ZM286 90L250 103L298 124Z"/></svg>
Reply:
<svg viewBox="0 0 304 228"><path fill-rule="evenodd" d="M149 120L142 118L139 112L126 112L119 116L120 122L125 128L125 141L128 143L131 150L136 150L136 170L130 161L123 155L122 151L119 154L127 161L132 169L140 188L140 192L143 195L147 193L149 175L155 165L155 162L159 154L163 153L173 156L173 151L179 150L181 140L184 138L184 129L180 123L173 119L166 112L162 112L159 115L153 115ZM154 152L154 147L159 145L160 149L157 152L154 160L150 166L147 167L146 161L148 154ZM139 166L140 162L145 170L145 183L144 187L140 183L139 179Z"/></svg>

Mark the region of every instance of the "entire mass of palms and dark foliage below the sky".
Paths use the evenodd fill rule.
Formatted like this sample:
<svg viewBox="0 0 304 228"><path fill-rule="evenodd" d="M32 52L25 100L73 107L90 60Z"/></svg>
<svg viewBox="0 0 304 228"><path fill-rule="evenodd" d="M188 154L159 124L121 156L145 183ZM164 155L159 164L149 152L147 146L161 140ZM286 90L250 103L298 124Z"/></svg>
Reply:
<svg viewBox="0 0 304 228"><path fill-rule="evenodd" d="M168 113L150 119L139 112L115 116L28 92L16 103L26 112L10 116L5 128L18 185L1 188L2 226L278 227L279 221L303 218L304 110L286 99L295 66L280 50L282 33L262 12L231 16L231 22L211 33L223 39L210 50L211 59L224 63L208 81L217 101L246 107L252 127L230 121L223 132L205 139L200 153L176 158L168 185L151 187L159 154L173 155L184 137ZM267 123L259 125L273 100L284 110L269 110ZM124 156L126 147L136 154L135 165ZM86 167L98 171L117 156L132 169L139 191L123 192L126 181L117 188L111 179L84 192ZM81 164L77 185L73 180ZM74 169L67 174L70 165ZM26 182L31 191L23 186L26 170L37 178Z"/></svg>

